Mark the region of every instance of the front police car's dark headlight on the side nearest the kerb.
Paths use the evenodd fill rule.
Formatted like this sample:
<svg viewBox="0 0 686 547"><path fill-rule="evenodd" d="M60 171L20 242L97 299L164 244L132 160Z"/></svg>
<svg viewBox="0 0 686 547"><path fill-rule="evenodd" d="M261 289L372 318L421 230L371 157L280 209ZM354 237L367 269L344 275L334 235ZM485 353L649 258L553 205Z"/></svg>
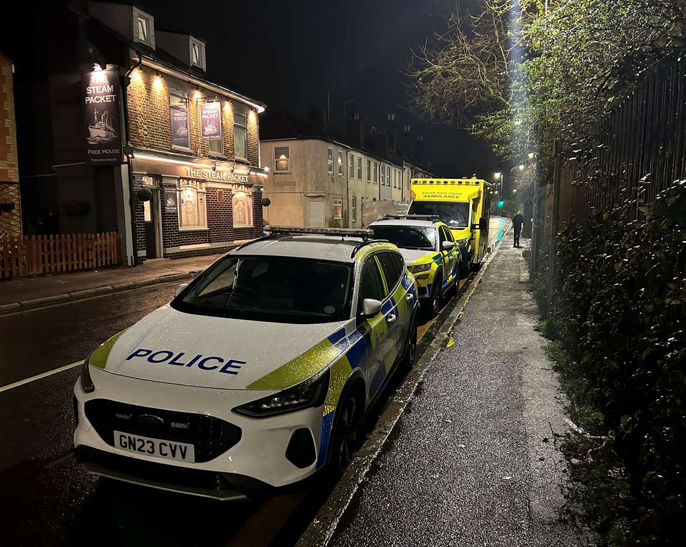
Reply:
<svg viewBox="0 0 686 547"><path fill-rule="evenodd" d="M321 406L327 398L330 376L331 369L327 367L322 372L307 378L305 382L300 382L275 395L241 404L233 411L251 418L263 418L308 409L311 406Z"/></svg>

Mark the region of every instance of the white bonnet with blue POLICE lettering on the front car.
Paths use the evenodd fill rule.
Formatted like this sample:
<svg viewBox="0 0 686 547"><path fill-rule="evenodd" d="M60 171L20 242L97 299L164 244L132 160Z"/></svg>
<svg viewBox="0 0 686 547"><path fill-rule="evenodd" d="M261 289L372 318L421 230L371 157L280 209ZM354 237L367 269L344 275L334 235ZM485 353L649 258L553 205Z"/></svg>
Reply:
<svg viewBox="0 0 686 547"><path fill-rule="evenodd" d="M167 305L119 337L105 370L178 385L246 389L343 325L207 317Z"/></svg>

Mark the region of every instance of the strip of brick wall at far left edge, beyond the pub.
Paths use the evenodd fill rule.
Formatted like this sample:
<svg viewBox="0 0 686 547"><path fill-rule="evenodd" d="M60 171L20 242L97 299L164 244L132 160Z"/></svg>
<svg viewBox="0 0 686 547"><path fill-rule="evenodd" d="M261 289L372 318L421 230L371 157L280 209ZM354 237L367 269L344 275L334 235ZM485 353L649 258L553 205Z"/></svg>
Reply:
<svg viewBox="0 0 686 547"><path fill-rule="evenodd" d="M0 234L21 235L19 161L16 153L16 117L12 62L0 53L0 203L13 203L12 212L0 212Z"/></svg>

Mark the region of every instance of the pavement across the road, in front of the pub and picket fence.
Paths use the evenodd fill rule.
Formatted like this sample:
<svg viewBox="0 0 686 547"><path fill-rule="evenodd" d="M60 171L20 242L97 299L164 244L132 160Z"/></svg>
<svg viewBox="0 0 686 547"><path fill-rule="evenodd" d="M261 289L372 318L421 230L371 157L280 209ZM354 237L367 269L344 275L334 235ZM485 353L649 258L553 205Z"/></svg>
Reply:
<svg viewBox="0 0 686 547"><path fill-rule="evenodd" d="M137 267L110 267L49 273L33 278L10 278L0 281L0 315L190 279L219 256L222 255L149 260Z"/></svg>

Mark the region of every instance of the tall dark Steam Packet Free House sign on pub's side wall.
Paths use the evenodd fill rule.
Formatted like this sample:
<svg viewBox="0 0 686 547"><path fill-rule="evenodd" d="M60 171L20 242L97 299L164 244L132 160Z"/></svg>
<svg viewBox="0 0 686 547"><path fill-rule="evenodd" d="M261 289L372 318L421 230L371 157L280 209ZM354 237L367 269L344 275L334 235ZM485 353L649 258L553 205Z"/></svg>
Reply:
<svg viewBox="0 0 686 547"><path fill-rule="evenodd" d="M86 165L119 165L121 122L119 121L119 72L93 71L82 74Z"/></svg>

